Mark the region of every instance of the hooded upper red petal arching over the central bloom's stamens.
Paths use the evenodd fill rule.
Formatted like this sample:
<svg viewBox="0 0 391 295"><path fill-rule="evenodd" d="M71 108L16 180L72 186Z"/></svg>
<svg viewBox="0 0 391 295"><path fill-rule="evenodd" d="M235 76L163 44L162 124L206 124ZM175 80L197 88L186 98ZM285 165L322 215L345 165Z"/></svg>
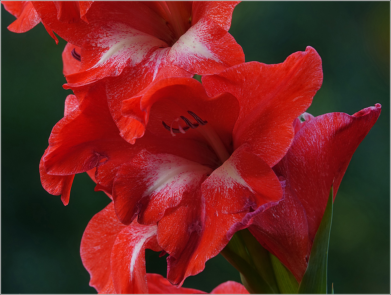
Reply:
<svg viewBox="0 0 391 295"><path fill-rule="evenodd" d="M135 101L140 106L138 112L134 107ZM150 118L152 106L154 115ZM190 117L187 113L190 110L208 121L208 126L216 131L225 148L232 150L232 128L239 114L239 104L228 93L209 97L201 83L195 79L166 78L152 83L139 97L125 100L121 110L124 116L139 121L144 129L148 124L148 130L161 137L171 136L162 128L162 121L170 124L181 115ZM132 139L135 140L138 136L140 135L135 134ZM203 135L196 131L181 137L205 141Z"/></svg>

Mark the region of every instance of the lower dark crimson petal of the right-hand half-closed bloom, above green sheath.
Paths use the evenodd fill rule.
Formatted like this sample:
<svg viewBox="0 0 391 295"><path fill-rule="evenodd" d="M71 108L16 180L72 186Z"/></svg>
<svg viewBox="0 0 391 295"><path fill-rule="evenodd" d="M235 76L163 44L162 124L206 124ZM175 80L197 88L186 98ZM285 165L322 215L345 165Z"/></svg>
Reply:
<svg viewBox="0 0 391 295"><path fill-rule="evenodd" d="M300 282L307 269L308 223L303 206L289 187L278 205L255 216L249 230Z"/></svg>

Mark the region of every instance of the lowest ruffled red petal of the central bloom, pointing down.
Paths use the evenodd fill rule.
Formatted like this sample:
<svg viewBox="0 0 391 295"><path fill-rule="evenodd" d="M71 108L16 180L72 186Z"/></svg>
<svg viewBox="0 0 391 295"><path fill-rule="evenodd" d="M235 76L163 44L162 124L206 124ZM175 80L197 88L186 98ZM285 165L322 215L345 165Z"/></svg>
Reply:
<svg viewBox="0 0 391 295"><path fill-rule="evenodd" d="M158 223L158 243L170 254L167 279L180 286L188 276L202 272L205 262L228 244L230 229L245 216L217 212L205 204L200 192L184 195L178 207L168 209Z"/></svg>

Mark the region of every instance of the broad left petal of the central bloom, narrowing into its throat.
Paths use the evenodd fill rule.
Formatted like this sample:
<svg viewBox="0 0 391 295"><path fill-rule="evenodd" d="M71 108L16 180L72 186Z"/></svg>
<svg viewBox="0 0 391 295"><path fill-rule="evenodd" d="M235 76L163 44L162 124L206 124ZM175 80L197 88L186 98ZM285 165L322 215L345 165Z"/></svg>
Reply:
<svg viewBox="0 0 391 295"><path fill-rule="evenodd" d="M136 146L129 144L119 135L109 112L105 93L104 85L93 86L79 106L54 126L49 148L42 158L44 169L41 169L41 175L48 173L61 179L99 166L95 174L99 182L97 188L112 194L113 179L120 166L129 162L144 148L206 163L213 157L200 142L172 138L161 142L149 133ZM68 96L67 101L66 108L73 109L76 106L74 95ZM54 190L55 183L52 186L45 186L45 189Z"/></svg>

